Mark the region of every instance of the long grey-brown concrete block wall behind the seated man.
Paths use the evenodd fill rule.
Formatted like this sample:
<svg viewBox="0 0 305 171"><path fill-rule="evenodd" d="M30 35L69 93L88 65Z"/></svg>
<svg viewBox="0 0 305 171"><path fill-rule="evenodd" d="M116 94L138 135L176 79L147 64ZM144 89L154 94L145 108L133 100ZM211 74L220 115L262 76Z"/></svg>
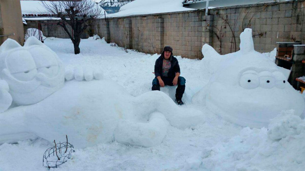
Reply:
<svg viewBox="0 0 305 171"><path fill-rule="evenodd" d="M107 18L98 21L95 33L108 43L145 53L160 53L169 45L174 55L202 58L203 44L222 54L237 51L239 35L249 27L255 50L268 52L276 42L305 43L304 7L305 1L300 0L214 8L208 16L203 9Z"/></svg>

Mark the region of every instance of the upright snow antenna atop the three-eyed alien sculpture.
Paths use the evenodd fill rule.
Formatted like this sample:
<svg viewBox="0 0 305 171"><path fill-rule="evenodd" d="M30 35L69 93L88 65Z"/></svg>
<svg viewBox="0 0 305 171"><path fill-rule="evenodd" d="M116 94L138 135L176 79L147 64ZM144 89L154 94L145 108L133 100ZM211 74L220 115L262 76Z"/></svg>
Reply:
<svg viewBox="0 0 305 171"><path fill-rule="evenodd" d="M239 47L242 53L249 53L251 51L254 51L252 29L246 28L242 33L240 33Z"/></svg>

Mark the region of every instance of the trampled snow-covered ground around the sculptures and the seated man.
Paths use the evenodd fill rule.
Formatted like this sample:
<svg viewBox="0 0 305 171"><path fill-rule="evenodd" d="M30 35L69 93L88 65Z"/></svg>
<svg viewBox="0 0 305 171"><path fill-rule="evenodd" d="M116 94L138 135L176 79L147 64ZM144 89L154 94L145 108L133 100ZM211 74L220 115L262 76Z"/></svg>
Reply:
<svg viewBox="0 0 305 171"><path fill-rule="evenodd" d="M70 39L47 38L45 44L56 52L66 70L77 66L100 68L106 78L132 96L151 91L157 54L126 53L93 38L81 40L81 53L77 55ZM198 60L177 58L181 76L186 79L185 105L181 107L201 110L203 123L186 129L170 126L162 143L149 148L116 141L83 149L75 146L68 162L50 170L304 170L304 120L293 116L293 111L282 113L271 123L269 132L267 128L243 128L223 120L206 107L191 103L210 74L202 72ZM174 99L175 87L161 91ZM42 156L52 146L41 138L4 143L0 146L0 170L48 170L42 166Z"/></svg>

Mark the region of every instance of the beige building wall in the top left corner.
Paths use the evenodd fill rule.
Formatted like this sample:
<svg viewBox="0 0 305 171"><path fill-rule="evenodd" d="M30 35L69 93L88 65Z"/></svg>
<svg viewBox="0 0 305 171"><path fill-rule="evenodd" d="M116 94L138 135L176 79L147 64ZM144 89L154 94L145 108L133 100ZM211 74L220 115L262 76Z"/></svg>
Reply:
<svg viewBox="0 0 305 171"><path fill-rule="evenodd" d="M14 34L14 35L10 35ZM0 45L8 38L16 40L23 45L24 32L21 15L20 1L0 1Z"/></svg>

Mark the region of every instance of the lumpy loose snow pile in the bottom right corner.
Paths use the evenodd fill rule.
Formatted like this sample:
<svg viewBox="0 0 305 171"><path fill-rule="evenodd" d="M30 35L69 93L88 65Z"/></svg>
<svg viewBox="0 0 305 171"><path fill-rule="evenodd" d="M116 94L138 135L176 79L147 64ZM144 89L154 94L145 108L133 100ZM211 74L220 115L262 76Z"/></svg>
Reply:
<svg viewBox="0 0 305 171"><path fill-rule="evenodd" d="M185 168L199 170L304 170L305 122L282 112L267 128L242 129L227 143L202 151L202 160L187 162ZM262 162L263 161L263 162ZM200 167L198 162L202 162ZM193 163L193 164L192 164Z"/></svg>

